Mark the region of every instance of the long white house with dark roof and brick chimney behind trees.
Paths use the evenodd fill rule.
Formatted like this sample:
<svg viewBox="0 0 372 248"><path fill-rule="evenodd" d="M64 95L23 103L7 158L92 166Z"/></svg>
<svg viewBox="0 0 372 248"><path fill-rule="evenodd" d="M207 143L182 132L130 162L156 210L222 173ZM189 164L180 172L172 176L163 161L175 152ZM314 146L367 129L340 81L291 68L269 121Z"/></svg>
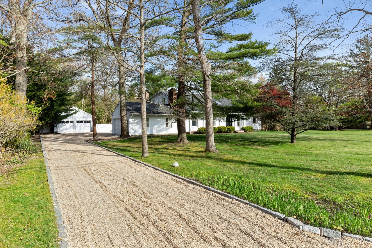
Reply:
<svg viewBox="0 0 372 248"><path fill-rule="evenodd" d="M177 134L177 122L172 119L172 109L167 106L176 100L176 91L170 89L169 91L160 90L154 95L150 96L150 102L146 103L147 114L147 134ZM221 106L231 105L231 100L222 99L214 100L214 104ZM127 102L126 110L129 124L129 134L141 135L141 103L140 102ZM193 133L199 127L205 127L205 120L203 112L196 111L187 107L187 112L195 117L186 119L186 132ZM200 116L200 117L197 117ZM213 126L233 126L235 130L241 130L241 127L252 126L253 130L261 130L261 121L257 117L245 117L236 120L233 117L216 117L213 121ZM112 113L112 132L113 134L120 135L120 105L116 105Z"/></svg>

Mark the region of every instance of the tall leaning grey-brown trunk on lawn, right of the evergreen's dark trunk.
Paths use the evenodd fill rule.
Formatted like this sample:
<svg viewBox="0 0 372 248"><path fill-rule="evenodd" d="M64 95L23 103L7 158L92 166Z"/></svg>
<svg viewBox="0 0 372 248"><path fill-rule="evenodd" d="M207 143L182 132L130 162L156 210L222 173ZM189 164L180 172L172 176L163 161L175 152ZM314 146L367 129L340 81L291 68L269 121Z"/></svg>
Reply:
<svg viewBox="0 0 372 248"><path fill-rule="evenodd" d="M203 44L203 34L202 25L200 18L200 1L193 0L192 4L192 15L194 19L194 33L195 33L195 43L198 48L198 55L201 64L201 69L203 73L203 89L204 89L204 107L205 107L205 133L206 133L206 143L205 152L218 152L214 143L214 132L213 132L213 106L212 106L212 88L211 79L209 75L211 74L211 64L209 64L204 44Z"/></svg>

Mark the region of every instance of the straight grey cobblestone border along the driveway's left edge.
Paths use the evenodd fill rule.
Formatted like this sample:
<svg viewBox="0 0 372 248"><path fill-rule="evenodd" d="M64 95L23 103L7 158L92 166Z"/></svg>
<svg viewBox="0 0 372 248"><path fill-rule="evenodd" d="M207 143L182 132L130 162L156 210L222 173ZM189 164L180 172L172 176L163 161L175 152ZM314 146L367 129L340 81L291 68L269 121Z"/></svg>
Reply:
<svg viewBox="0 0 372 248"><path fill-rule="evenodd" d="M57 195L55 194L52 175L50 173L47 154L45 153L45 148L44 148L44 144L43 144L43 140L42 140L41 135L40 135L40 142L41 142L41 148L43 150L45 167L47 168L49 191L50 191L50 194L51 194L52 199L53 199L55 216L57 217L57 228L58 228L58 238L60 239L60 248L68 248L69 246L68 246L68 242L67 242L65 226L63 225L63 219L62 219L60 204L58 203Z"/></svg>

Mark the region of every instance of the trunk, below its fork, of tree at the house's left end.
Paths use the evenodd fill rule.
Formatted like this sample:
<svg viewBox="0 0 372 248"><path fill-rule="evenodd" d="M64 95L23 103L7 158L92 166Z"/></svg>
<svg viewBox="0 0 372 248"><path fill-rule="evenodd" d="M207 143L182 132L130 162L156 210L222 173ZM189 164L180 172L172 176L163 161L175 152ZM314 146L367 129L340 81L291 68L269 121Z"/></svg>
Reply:
<svg viewBox="0 0 372 248"><path fill-rule="evenodd" d="M122 53L118 54L121 61L124 61ZM129 137L128 115L126 114L126 91L125 91L125 68L118 62L119 67L119 101L120 101L120 138Z"/></svg>

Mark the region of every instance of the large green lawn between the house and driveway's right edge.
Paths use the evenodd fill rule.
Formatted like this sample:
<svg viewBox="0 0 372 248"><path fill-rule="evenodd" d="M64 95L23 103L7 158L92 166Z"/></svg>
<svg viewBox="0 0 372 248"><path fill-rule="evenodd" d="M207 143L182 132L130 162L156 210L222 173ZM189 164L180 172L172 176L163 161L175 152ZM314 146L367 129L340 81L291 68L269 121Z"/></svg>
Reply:
<svg viewBox="0 0 372 248"><path fill-rule="evenodd" d="M149 137L147 158L141 139L101 145L311 225L372 236L372 131L307 131L296 144L284 132L216 134L217 154L203 152L205 135L187 137Z"/></svg>

